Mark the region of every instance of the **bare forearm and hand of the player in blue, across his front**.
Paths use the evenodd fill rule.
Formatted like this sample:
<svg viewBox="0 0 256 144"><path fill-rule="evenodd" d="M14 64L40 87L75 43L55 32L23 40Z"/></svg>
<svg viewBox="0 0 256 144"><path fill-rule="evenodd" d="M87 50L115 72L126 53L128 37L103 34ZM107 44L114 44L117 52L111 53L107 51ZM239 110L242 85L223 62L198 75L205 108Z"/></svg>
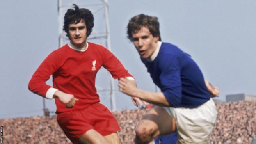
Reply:
<svg viewBox="0 0 256 144"><path fill-rule="evenodd" d="M150 92L138 89L132 82L125 78L120 78L118 85L119 91L128 96L136 97L159 106L171 106L162 92Z"/></svg>

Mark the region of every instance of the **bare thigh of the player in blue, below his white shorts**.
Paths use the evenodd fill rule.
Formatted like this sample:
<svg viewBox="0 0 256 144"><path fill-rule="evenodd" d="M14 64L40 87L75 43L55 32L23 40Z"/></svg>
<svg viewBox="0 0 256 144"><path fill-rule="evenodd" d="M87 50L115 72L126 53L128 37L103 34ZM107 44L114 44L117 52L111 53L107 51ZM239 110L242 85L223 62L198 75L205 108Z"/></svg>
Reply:
<svg viewBox="0 0 256 144"><path fill-rule="evenodd" d="M153 137L157 137L158 135L174 133L176 124L163 107L156 106L142 117L137 128L152 131Z"/></svg>

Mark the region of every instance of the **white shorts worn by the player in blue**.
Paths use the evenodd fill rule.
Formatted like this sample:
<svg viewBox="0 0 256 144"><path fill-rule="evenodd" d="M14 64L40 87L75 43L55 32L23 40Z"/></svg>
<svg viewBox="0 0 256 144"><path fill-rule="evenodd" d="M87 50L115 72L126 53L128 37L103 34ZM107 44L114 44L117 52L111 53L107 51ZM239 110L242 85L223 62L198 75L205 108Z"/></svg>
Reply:
<svg viewBox="0 0 256 144"><path fill-rule="evenodd" d="M176 121L181 144L207 144L217 118L216 106L211 98L196 108L164 108Z"/></svg>

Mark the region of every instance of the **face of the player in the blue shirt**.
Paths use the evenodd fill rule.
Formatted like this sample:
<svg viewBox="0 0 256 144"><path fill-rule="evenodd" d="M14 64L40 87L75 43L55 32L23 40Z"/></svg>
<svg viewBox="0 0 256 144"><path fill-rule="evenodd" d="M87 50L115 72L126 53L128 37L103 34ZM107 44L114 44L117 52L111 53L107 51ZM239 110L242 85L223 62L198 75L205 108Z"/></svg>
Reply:
<svg viewBox="0 0 256 144"><path fill-rule="evenodd" d="M153 37L147 27L133 32L132 37L139 55L144 59L151 57L158 46L158 37Z"/></svg>

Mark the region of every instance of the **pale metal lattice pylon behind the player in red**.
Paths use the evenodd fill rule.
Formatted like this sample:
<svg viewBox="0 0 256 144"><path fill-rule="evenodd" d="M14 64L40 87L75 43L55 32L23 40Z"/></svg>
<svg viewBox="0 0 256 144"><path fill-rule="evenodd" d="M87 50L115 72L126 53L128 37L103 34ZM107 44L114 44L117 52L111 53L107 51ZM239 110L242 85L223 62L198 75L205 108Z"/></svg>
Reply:
<svg viewBox="0 0 256 144"><path fill-rule="evenodd" d="M98 2L98 3L96 3ZM66 37L66 33L62 30L64 14L67 9L72 8L72 4L75 3L78 7L86 7L94 14L94 29L91 35L87 38L90 41L96 41L96 43L103 43L108 50L111 51L110 44L110 25L109 25L109 14L108 14L108 1L107 0L58 0L58 12L59 12L59 47L63 46L64 41L67 43L69 39ZM101 13L103 16L97 22L98 16L96 14ZM98 24L103 26L96 27ZM110 108L112 111L116 110L115 93L114 93L114 80L110 73L107 74L110 83L109 88L104 89L96 86L98 92L109 92L110 96Z"/></svg>

